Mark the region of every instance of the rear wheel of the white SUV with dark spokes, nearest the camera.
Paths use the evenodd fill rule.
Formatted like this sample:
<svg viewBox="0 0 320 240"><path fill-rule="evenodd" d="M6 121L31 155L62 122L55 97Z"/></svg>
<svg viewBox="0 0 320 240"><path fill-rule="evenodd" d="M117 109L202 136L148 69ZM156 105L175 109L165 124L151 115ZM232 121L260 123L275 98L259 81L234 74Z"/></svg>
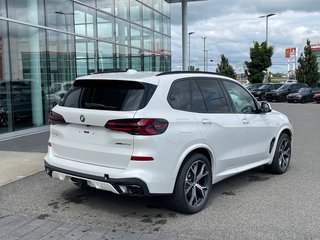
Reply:
<svg viewBox="0 0 320 240"><path fill-rule="evenodd" d="M211 164L207 157L195 153L180 168L173 194L167 206L182 213L197 213L206 205L212 188Z"/></svg>

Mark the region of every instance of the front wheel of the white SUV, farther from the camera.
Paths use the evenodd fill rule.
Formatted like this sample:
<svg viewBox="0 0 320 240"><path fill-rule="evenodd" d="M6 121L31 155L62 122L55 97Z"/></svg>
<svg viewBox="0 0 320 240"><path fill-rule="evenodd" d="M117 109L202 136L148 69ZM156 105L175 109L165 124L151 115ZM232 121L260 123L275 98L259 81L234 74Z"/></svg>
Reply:
<svg viewBox="0 0 320 240"><path fill-rule="evenodd" d="M288 134L282 133L279 137L273 161L266 165L266 169L275 174L283 174L287 171L291 159L291 139Z"/></svg>

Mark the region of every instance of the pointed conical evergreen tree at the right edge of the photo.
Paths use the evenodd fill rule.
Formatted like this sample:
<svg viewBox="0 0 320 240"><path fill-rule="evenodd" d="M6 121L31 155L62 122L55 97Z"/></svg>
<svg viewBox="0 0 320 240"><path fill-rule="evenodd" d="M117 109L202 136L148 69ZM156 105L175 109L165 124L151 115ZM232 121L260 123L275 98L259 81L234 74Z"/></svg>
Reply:
<svg viewBox="0 0 320 240"><path fill-rule="evenodd" d="M298 59L299 66L296 69L298 82L306 83L311 87L315 87L319 80L319 66L317 58L312 52L309 39L304 47L304 52Z"/></svg>

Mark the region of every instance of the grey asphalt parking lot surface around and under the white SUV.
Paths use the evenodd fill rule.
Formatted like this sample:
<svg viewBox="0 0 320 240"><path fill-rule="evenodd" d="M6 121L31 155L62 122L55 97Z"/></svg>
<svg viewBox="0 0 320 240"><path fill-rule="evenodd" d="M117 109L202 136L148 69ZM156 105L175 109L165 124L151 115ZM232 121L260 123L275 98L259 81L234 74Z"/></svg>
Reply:
<svg viewBox="0 0 320 240"><path fill-rule="evenodd" d="M60 224L65 234L56 239L85 239L86 231L103 232L104 239L320 239L320 104L272 107L295 129L284 175L258 168L226 179L214 186L203 211L184 215L166 209L161 198L82 190L40 172L0 187L0 239L31 236L11 234L3 224L9 217L34 229L41 221ZM72 235L76 229L82 235Z"/></svg>

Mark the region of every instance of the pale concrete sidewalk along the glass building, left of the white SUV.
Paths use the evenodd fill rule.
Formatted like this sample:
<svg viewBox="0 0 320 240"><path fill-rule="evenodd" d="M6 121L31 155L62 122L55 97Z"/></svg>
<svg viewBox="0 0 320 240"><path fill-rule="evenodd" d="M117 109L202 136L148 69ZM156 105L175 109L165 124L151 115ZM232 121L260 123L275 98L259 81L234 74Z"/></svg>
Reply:
<svg viewBox="0 0 320 240"><path fill-rule="evenodd" d="M43 132L0 141L0 186L42 171L48 138Z"/></svg>

